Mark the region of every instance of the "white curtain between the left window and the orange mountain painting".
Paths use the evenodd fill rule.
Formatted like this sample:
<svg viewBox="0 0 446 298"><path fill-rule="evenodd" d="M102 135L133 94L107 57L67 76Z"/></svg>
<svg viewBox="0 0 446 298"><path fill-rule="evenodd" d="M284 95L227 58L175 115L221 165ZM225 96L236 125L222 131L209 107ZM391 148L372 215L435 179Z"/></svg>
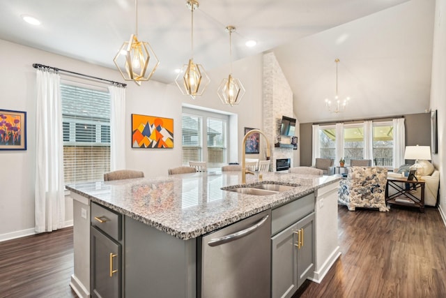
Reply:
<svg viewBox="0 0 446 298"><path fill-rule="evenodd" d="M125 88L110 86L110 170L125 169Z"/></svg>

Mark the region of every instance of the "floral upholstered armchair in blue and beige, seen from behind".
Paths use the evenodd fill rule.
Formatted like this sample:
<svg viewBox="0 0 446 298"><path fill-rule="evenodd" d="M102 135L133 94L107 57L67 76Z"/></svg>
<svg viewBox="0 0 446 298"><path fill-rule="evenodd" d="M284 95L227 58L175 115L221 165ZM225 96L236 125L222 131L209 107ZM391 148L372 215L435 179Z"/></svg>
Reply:
<svg viewBox="0 0 446 298"><path fill-rule="evenodd" d="M339 184L338 202L355 211L356 207L389 211L385 204L385 167L349 167L346 179Z"/></svg>

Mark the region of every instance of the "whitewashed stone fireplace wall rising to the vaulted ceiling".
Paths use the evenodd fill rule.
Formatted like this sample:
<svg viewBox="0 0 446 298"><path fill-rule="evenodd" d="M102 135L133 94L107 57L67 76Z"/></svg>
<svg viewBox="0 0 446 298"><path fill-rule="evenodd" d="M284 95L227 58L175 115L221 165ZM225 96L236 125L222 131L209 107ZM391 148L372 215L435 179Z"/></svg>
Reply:
<svg viewBox="0 0 446 298"><path fill-rule="evenodd" d="M275 54L270 52L263 55L263 131L272 147L271 169L274 172L277 158L291 158L293 165L293 149L274 147L280 140L282 116L293 117L293 91ZM289 143L289 140L282 142Z"/></svg>

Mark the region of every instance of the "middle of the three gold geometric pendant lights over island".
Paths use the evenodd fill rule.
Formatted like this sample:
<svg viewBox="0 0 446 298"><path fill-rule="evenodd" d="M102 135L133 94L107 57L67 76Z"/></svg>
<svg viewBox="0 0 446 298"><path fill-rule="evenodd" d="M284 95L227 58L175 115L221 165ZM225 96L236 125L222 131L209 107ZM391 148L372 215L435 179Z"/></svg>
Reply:
<svg viewBox="0 0 446 298"><path fill-rule="evenodd" d="M195 99L195 96L201 96L203 94L210 79L201 64L194 64L194 10L198 8L199 3L196 0L188 0L186 6L192 12L192 30L190 38L192 44L192 57L189 59L189 63L185 64L181 69L182 71L176 76L175 83L183 95ZM184 73L183 76L182 73Z"/></svg>

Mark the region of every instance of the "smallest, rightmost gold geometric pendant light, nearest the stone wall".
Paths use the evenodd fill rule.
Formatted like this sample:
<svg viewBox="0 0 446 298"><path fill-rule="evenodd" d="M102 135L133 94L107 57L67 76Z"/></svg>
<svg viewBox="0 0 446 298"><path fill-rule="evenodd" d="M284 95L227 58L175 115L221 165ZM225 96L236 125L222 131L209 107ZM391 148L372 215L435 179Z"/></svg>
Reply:
<svg viewBox="0 0 446 298"><path fill-rule="evenodd" d="M222 100L222 103L226 105L238 105L245 95L245 88L240 80L232 77L232 47L231 47L231 34L236 31L236 27L226 27L226 32L229 32L229 62L231 65L231 71L229 77L224 78L217 89L218 97Z"/></svg>

